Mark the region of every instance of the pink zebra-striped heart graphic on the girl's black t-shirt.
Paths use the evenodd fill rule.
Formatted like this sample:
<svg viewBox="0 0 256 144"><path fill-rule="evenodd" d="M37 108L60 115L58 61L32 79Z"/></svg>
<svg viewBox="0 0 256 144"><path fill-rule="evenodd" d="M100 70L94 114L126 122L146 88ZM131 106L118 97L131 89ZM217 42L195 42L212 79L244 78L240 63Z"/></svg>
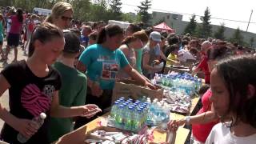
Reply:
<svg viewBox="0 0 256 144"><path fill-rule="evenodd" d="M29 84L22 90L22 106L33 114L34 117L50 110L51 97L54 86L46 85L41 91L35 84ZM47 94L47 95L46 95Z"/></svg>

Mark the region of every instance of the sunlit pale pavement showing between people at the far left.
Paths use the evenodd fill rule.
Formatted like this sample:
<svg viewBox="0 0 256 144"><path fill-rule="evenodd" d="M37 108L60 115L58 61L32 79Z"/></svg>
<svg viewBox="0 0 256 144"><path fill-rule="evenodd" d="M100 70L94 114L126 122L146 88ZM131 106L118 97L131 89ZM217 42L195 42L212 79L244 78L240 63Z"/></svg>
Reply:
<svg viewBox="0 0 256 144"><path fill-rule="evenodd" d="M6 42L3 43L2 46L3 49L6 48ZM8 64L10 64L10 62L13 61L14 59L14 50L10 51L10 54L8 56ZM18 47L18 60L22 60L22 59L26 59L26 56L23 54L23 51L21 49L21 47ZM3 63L0 62L0 71L4 68ZM2 96L0 97L0 102L1 105L6 107L7 110L9 110L9 93L8 90L6 90L6 92L4 94L2 94ZM0 130L2 130L2 125L3 125L3 121L2 119L0 119Z"/></svg>

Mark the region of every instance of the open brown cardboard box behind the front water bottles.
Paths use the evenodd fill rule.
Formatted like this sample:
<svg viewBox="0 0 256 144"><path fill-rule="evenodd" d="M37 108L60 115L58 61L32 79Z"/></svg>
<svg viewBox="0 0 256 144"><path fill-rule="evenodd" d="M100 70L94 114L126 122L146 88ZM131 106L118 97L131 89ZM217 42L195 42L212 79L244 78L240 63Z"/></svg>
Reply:
<svg viewBox="0 0 256 144"><path fill-rule="evenodd" d="M158 90L151 90L150 88L142 86L140 83L133 80L121 80L119 82L115 82L112 94L112 103L120 97L138 99L142 98L142 96L146 96L151 100L154 98L162 100L163 89L159 88Z"/></svg>

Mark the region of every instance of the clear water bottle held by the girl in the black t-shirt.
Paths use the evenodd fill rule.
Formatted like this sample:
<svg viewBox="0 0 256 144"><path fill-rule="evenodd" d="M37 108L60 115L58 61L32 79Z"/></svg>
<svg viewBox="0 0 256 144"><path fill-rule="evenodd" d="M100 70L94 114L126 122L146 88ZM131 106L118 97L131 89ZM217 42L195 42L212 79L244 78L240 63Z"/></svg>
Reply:
<svg viewBox="0 0 256 144"><path fill-rule="evenodd" d="M40 129L45 119L46 119L46 114L41 113L38 117L33 118L32 121L37 124L37 129ZM21 133L18 133L17 135L17 140L18 142L21 142L21 143L27 142L30 138L26 138Z"/></svg>

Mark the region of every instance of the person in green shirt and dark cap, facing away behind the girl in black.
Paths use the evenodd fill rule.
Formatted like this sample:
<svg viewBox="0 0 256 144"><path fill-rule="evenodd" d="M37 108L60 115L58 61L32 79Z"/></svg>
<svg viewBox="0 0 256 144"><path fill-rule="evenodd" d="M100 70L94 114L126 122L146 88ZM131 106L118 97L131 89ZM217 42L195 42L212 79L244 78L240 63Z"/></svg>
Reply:
<svg viewBox="0 0 256 144"><path fill-rule="evenodd" d="M62 106L83 106L86 102L86 75L74 68L74 60L80 51L80 41L74 32L64 31L65 46L54 68L62 76L62 88L59 90L59 103ZM101 111L96 105L86 105L93 109L92 115ZM94 110L96 109L96 110ZM73 118L50 118L49 140L54 142L73 129Z"/></svg>

